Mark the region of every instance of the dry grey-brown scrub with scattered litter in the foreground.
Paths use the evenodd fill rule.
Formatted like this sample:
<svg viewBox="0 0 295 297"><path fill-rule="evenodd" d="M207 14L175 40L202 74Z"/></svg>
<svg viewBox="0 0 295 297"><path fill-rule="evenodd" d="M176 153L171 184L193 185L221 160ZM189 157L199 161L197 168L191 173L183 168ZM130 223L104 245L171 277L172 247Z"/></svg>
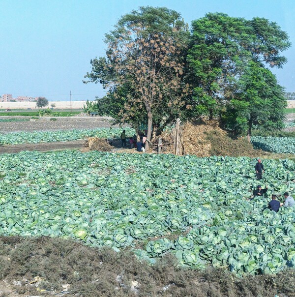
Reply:
<svg viewBox="0 0 295 297"><path fill-rule="evenodd" d="M238 278L223 269L178 267L169 254L150 266L130 250L61 238L0 238L0 277L11 290L6 296L63 296L67 287L69 297L295 297L294 273Z"/></svg>

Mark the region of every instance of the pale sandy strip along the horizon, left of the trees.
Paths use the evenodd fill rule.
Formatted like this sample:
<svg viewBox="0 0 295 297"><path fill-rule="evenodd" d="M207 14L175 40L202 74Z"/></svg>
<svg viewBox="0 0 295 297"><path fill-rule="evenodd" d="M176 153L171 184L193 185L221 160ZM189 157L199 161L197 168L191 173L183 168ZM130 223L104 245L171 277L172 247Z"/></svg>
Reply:
<svg viewBox="0 0 295 297"><path fill-rule="evenodd" d="M82 109L86 101L72 101L72 109ZM51 104L55 104L55 109L70 109L70 101L49 101L49 107ZM39 109L36 107L36 102L0 102L1 109Z"/></svg>

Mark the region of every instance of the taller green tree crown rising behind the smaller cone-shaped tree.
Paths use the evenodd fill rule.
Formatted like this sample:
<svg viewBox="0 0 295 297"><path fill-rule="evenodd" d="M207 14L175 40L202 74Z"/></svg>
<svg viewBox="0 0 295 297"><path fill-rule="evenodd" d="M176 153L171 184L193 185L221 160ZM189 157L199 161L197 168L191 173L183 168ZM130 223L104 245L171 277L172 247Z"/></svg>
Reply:
<svg viewBox="0 0 295 297"><path fill-rule="evenodd" d="M280 68L287 60L281 52L289 47L287 33L264 18L248 21L208 13L193 21L187 57L192 114L218 116L233 98L249 62Z"/></svg>

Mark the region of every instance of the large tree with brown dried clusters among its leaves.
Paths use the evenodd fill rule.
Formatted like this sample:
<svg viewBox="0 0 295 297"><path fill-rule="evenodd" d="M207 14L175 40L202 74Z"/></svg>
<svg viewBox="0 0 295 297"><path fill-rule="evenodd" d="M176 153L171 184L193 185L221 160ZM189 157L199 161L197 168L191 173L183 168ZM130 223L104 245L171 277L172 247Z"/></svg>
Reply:
<svg viewBox="0 0 295 297"><path fill-rule="evenodd" d="M188 31L180 14L165 7L140 7L106 34L106 58L90 61L88 82L101 83L121 109L124 122L147 120L152 128L174 120L185 105L183 82Z"/></svg>

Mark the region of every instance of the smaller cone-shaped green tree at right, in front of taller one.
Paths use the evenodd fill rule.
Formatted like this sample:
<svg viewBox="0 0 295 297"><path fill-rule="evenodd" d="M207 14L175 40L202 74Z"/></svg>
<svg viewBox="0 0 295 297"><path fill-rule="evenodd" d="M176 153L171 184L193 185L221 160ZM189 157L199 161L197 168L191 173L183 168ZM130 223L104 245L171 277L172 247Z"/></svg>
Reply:
<svg viewBox="0 0 295 297"><path fill-rule="evenodd" d="M223 115L225 124L251 139L253 126L281 129L287 101L275 75L259 63L250 61Z"/></svg>

